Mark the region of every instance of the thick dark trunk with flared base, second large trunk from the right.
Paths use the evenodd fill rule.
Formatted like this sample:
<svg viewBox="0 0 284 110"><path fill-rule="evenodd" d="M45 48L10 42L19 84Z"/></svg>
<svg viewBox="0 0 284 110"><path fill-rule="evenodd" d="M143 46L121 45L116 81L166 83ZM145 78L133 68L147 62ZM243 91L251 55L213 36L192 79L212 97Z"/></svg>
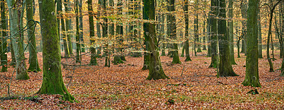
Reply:
<svg viewBox="0 0 284 110"><path fill-rule="evenodd" d="M219 17L226 18L226 2L225 0L217 1L219 8ZM218 38L219 38L219 72L217 77L236 76L230 62L229 39L226 32L226 20L218 20Z"/></svg>

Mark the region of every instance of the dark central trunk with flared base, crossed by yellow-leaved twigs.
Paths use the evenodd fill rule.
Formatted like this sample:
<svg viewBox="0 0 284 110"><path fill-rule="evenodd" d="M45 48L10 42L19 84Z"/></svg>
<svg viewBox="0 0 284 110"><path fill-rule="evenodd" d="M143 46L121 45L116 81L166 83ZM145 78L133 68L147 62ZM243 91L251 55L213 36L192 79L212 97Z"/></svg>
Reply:
<svg viewBox="0 0 284 110"><path fill-rule="evenodd" d="M155 20L155 6L154 0L143 0L143 19ZM163 67L160 63L160 56L158 51L158 40L155 35L154 23L143 23L144 35L146 42L149 44L149 75L147 80L158 80L168 78L163 71Z"/></svg>

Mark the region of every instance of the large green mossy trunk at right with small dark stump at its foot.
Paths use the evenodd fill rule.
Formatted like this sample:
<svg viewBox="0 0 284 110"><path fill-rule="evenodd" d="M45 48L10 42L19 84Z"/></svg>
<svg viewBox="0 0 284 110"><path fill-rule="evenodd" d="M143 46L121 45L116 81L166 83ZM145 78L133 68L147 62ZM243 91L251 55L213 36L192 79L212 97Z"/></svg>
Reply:
<svg viewBox="0 0 284 110"><path fill-rule="evenodd" d="M261 87L258 77L258 0L249 0L247 52L246 52L246 78L243 85Z"/></svg>

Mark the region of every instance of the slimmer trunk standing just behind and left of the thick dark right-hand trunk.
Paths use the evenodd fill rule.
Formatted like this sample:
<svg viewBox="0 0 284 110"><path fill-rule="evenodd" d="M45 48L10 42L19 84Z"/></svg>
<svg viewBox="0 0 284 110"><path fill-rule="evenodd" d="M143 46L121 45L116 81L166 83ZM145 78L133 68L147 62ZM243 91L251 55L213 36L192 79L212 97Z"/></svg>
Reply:
<svg viewBox="0 0 284 110"><path fill-rule="evenodd" d="M211 63L209 68L217 68L217 3L216 0L211 0L210 12L210 47L211 47Z"/></svg>

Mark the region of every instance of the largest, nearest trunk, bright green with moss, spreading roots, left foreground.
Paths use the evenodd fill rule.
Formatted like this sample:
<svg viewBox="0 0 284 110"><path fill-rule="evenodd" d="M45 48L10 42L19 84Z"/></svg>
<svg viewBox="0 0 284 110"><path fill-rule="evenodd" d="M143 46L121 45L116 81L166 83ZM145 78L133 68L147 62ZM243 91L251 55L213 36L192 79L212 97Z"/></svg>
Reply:
<svg viewBox="0 0 284 110"><path fill-rule="evenodd" d="M43 37L43 82L37 94L61 94L63 99L73 102L61 73L60 43L53 0L39 0L40 30Z"/></svg>

